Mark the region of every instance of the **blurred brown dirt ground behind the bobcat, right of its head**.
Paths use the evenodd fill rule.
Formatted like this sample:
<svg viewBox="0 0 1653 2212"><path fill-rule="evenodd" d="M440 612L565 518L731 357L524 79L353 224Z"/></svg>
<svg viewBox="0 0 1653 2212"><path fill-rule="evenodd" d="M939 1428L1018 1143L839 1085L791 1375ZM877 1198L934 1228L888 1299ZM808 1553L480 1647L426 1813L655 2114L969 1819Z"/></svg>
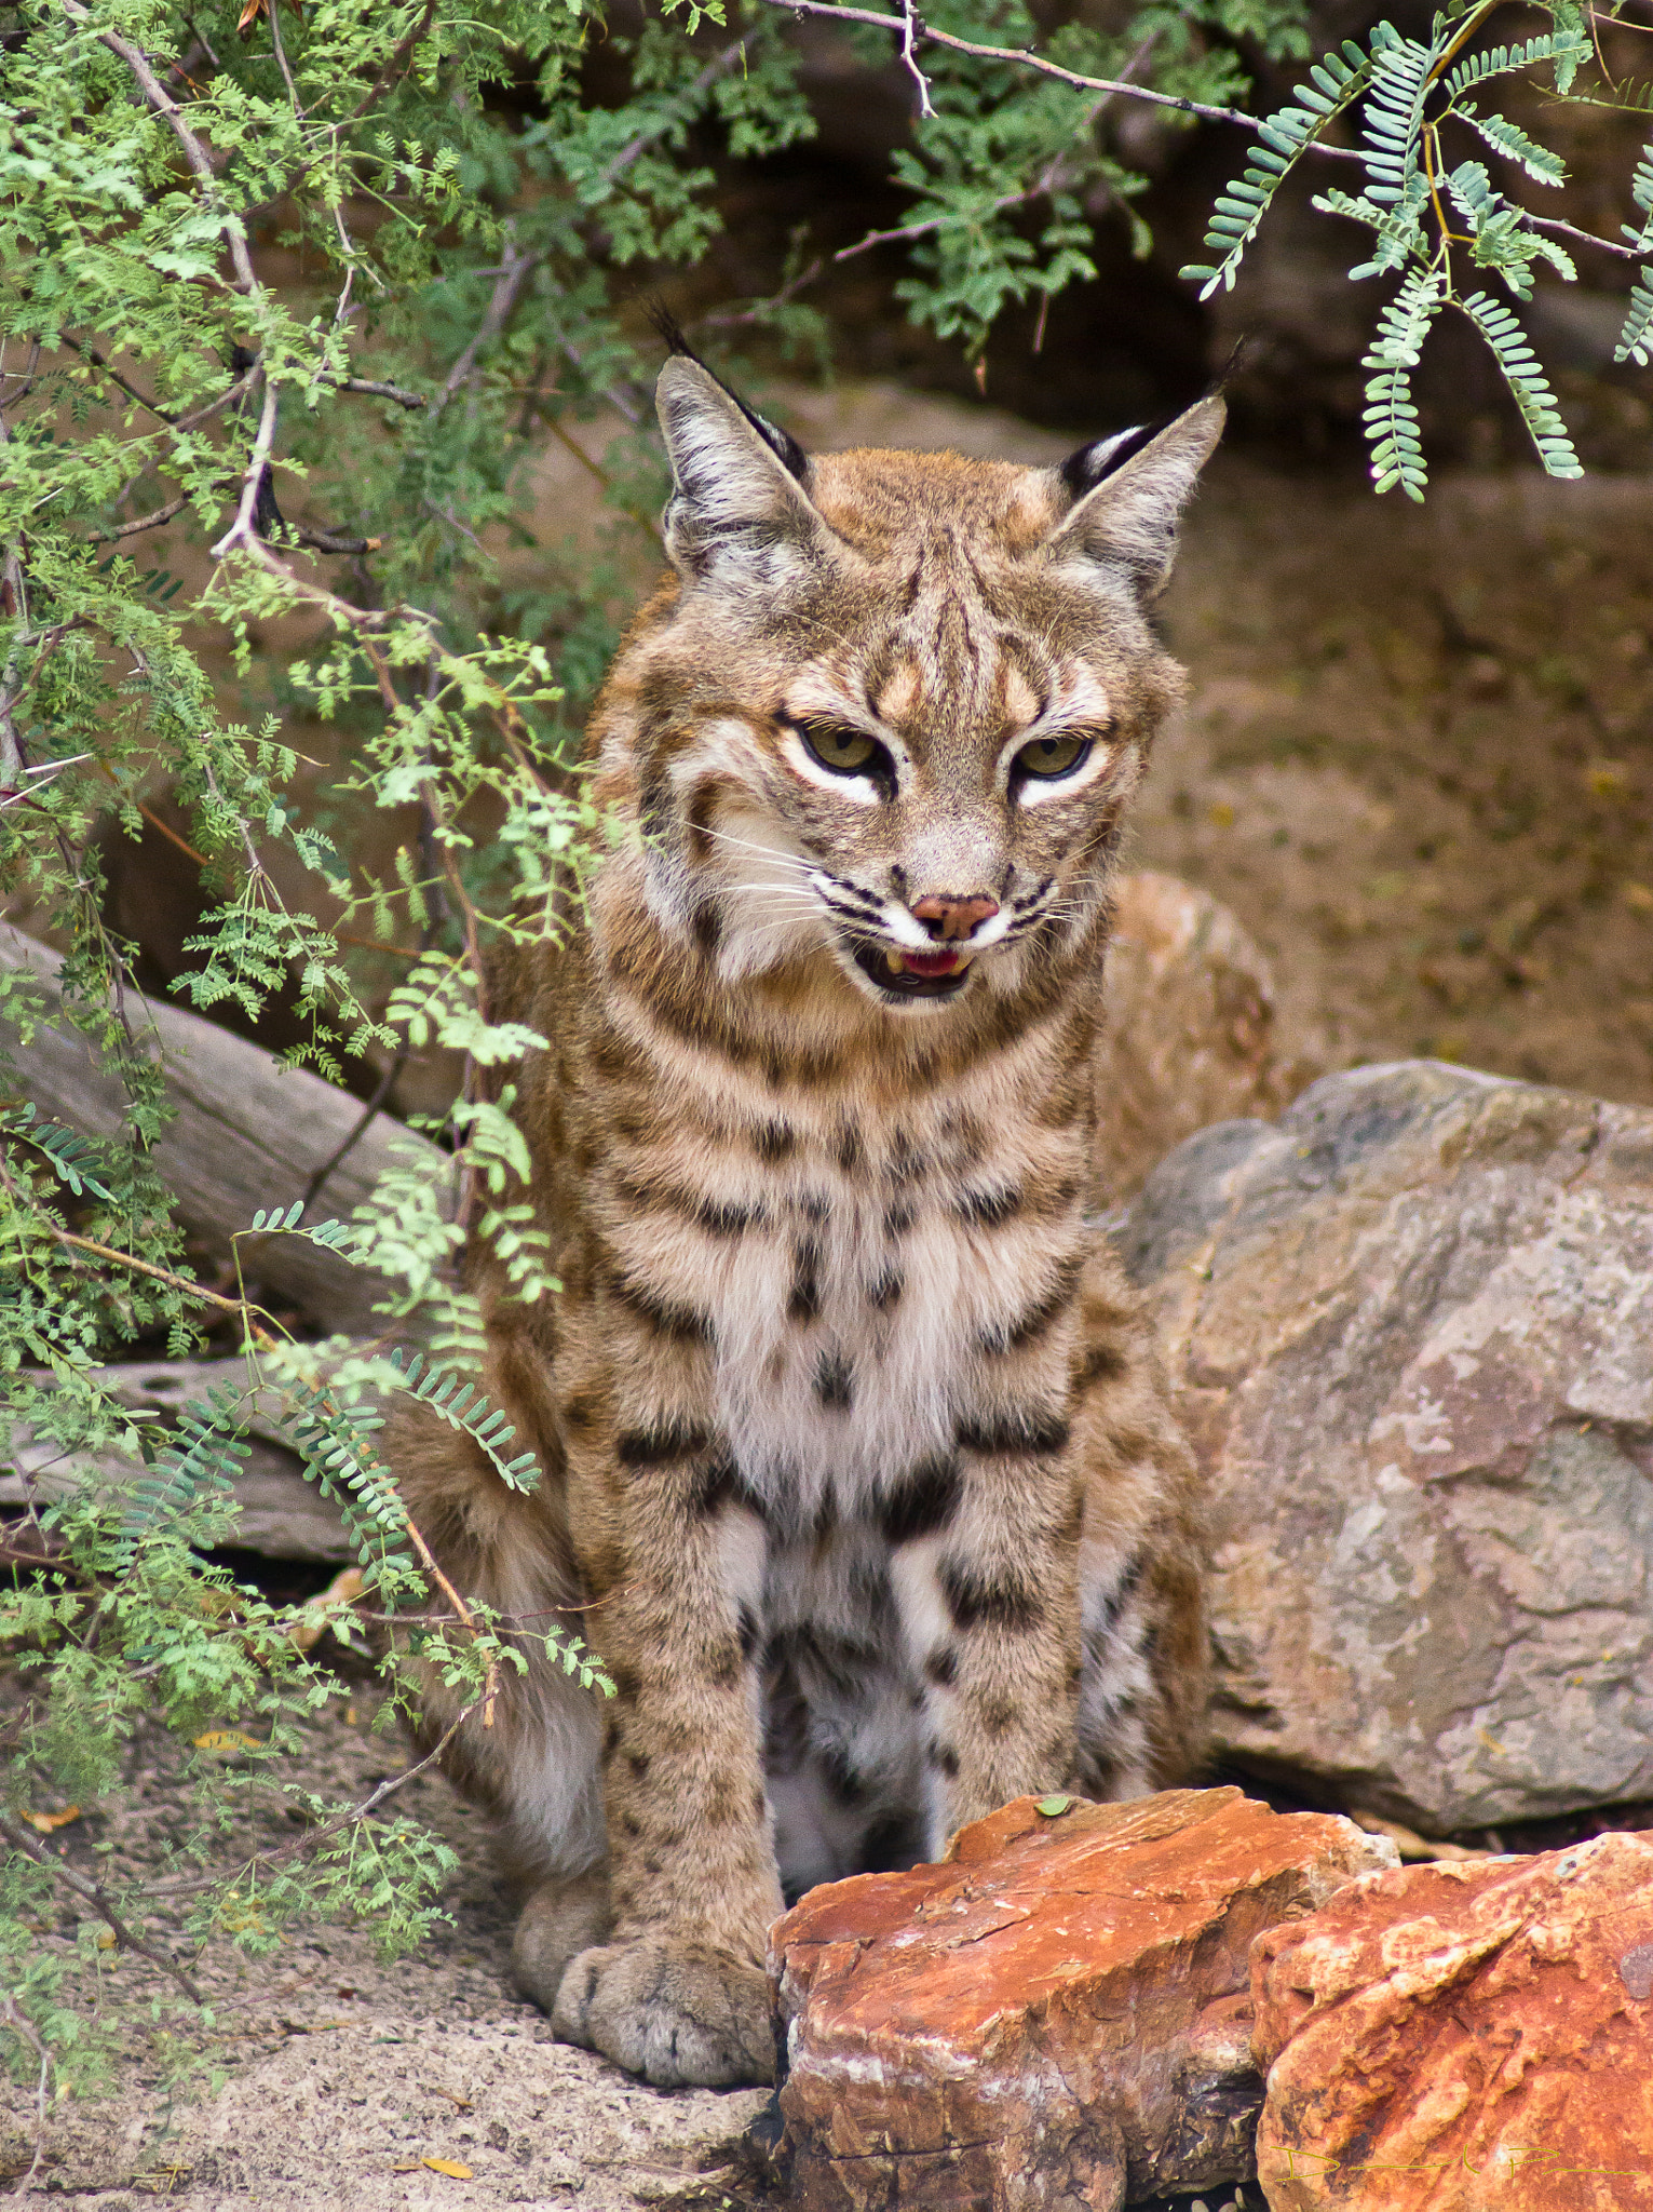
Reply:
<svg viewBox="0 0 1653 2212"><path fill-rule="evenodd" d="M1328 1064L1653 1099L1646 502L1213 473L1169 602L1191 706L1136 852L1235 909Z"/></svg>

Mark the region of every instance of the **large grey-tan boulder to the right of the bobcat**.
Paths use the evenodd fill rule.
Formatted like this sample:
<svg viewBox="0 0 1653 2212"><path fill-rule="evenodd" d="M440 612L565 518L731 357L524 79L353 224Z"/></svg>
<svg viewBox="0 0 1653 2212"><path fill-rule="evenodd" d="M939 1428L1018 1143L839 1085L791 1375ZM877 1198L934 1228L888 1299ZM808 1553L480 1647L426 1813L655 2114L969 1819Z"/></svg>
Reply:
<svg viewBox="0 0 1653 2212"><path fill-rule="evenodd" d="M1653 1113L1436 1062L1107 1228L1215 1498L1215 1741L1432 1834L1653 1798Z"/></svg>

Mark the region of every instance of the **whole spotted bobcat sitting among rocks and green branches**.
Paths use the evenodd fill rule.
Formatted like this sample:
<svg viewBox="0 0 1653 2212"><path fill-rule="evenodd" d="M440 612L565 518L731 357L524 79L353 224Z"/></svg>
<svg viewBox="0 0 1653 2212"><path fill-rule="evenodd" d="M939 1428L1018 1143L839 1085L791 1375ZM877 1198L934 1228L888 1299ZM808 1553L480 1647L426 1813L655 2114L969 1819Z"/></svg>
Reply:
<svg viewBox="0 0 1653 2212"><path fill-rule="evenodd" d="M683 354L659 411L676 573L588 739L634 834L491 982L548 1040L515 1110L564 1294L473 1259L544 1480L393 1449L446 1573L617 1683L526 1644L449 1763L528 1885L522 1989L674 2086L771 2077L785 1896L1198 1750L1191 1460L1081 1203L1180 688L1147 606L1222 405L1059 469L809 458Z"/></svg>

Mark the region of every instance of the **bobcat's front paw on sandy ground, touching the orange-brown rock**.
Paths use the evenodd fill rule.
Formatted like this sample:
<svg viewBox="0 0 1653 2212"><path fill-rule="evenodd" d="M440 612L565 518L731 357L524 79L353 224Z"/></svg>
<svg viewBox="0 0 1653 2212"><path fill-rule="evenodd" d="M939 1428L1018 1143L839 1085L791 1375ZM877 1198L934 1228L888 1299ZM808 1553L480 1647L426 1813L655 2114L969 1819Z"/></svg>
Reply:
<svg viewBox="0 0 1653 2212"><path fill-rule="evenodd" d="M552 2028L656 2088L773 2081L769 1991L756 1966L696 1942L625 1942L568 1962Z"/></svg>

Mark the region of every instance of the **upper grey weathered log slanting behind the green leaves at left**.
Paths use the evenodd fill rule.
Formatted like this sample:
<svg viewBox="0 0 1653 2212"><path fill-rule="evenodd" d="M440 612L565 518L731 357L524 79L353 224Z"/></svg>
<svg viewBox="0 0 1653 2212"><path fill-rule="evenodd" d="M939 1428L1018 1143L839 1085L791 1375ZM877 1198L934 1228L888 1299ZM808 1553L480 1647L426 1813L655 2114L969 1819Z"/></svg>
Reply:
<svg viewBox="0 0 1653 2212"><path fill-rule="evenodd" d="M62 1018L57 953L0 922L0 969L27 969L46 998L51 1029L38 1029L29 1051L18 1055L38 1110L88 1137L119 1137L126 1121L119 1071ZM283 1066L197 1013L135 991L126 1006L139 1051L161 1060L166 1091L177 1106L177 1117L155 1144L155 1166L177 1197L179 1221L210 1252L228 1256L232 1232L245 1228L259 1208L292 1206L303 1197L362 1108L347 1091ZM429 1139L389 1115L373 1115L329 1175L314 1219L336 1214L347 1221L380 1172L396 1164L396 1152L404 1166L440 1159ZM329 1329L373 1334L382 1327L373 1314L382 1279L347 1265L336 1252L303 1237L270 1237L245 1241L241 1254L267 1294L303 1307Z"/></svg>

